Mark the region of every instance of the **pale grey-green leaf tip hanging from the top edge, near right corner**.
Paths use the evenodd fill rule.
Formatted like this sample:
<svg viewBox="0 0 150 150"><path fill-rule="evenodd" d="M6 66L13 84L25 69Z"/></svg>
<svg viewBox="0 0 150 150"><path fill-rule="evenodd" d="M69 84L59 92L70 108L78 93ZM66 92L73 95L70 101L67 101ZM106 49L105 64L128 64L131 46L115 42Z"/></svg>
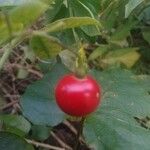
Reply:
<svg viewBox="0 0 150 150"><path fill-rule="evenodd" d="M144 2L144 0L129 0L128 4L125 6L125 18L127 18L142 2Z"/></svg>

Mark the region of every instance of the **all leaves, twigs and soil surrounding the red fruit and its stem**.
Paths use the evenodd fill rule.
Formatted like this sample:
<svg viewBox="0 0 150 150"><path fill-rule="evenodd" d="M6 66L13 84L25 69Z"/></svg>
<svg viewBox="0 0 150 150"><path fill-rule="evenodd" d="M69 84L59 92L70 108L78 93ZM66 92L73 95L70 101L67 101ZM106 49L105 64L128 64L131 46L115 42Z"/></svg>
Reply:
<svg viewBox="0 0 150 150"><path fill-rule="evenodd" d="M0 150L73 149L54 88L80 46L103 88L81 149L149 150L149 0L0 0Z"/></svg>

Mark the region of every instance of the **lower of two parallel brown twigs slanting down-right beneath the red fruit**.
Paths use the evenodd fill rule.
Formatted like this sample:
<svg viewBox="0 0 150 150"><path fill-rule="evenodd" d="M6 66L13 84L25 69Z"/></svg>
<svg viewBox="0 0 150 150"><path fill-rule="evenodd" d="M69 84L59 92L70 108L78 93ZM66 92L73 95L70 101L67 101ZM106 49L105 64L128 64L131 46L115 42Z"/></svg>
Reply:
<svg viewBox="0 0 150 150"><path fill-rule="evenodd" d="M64 143L54 132L51 132L52 137L62 146L65 150L73 150L69 145Z"/></svg>

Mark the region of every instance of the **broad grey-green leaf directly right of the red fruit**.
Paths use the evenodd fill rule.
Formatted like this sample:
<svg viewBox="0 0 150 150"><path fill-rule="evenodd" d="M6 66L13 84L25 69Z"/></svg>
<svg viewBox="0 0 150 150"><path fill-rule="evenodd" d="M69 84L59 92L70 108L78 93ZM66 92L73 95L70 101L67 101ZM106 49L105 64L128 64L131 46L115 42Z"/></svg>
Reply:
<svg viewBox="0 0 150 150"><path fill-rule="evenodd" d="M118 109L132 116L150 115L149 88L144 86L146 77L139 78L130 71L119 69L101 72L101 76L98 73L94 72L93 75L102 83L105 92L103 107ZM149 76L147 81L150 81Z"/></svg>

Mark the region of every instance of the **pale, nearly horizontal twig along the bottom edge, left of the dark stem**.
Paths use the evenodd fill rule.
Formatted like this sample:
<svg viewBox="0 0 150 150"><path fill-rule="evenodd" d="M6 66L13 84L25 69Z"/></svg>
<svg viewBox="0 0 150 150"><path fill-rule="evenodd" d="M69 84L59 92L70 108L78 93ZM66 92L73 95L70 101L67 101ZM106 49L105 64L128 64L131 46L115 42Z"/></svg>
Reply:
<svg viewBox="0 0 150 150"><path fill-rule="evenodd" d="M64 148L59 148L59 147L52 146L52 145L49 145L49 144L40 143L40 142L37 142L37 141L34 141L34 140L26 139L26 141L28 143L32 144L32 145L35 145L36 147L43 147L43 148L47 148L47 149L51 149L51 150L65 150Z"/></svg>

